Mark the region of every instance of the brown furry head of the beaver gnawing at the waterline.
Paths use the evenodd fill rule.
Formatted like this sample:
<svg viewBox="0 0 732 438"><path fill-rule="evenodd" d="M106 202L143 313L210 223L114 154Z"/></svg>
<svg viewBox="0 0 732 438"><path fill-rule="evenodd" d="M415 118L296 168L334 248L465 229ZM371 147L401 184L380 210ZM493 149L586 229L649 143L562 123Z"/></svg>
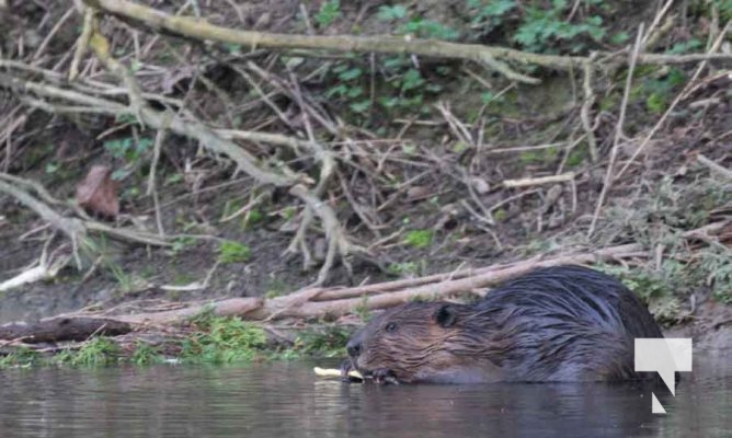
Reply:
<svg viewBox="0 0 732 438"><path fill-rule="evenodd" d="M373 319L346 349L353 367L377 382L472 380L487 369L485 325L473 318L468 306L408 303Z"/></svg>

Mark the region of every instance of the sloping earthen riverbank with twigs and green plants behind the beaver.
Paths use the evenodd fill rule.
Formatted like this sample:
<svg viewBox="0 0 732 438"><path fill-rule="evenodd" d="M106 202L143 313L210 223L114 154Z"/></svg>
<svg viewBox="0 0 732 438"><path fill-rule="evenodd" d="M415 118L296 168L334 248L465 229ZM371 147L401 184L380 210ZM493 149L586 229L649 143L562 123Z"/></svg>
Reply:
<svg viewBox="0 0 732 438"><path fill-rule="evenodd" d="M574 262L618 276L670 333L729 347L724 2L214 3L139 2L235 37L392 35L510 56L202 43L119 11L99 10L95 28L64 2L2 3L0 324L245 304L227 313L243 322L9 335L8 366L336 355L391 291L470 300L494 284L454 273L617 247ZM397 280L412 286L379 290ZM371 285L346 310L322 303Z"/></svg>

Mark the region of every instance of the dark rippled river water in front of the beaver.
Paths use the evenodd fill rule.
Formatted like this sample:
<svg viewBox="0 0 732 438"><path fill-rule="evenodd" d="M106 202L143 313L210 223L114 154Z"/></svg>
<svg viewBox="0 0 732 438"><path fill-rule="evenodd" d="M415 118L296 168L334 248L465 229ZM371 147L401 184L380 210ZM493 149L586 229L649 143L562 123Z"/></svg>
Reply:
<svg viewBox="0 0 732 438"><path fill-rule="evenodd" d="M399 385L312 364L0 372L0 437L732 437L732 356L695 357L667 411L606 384ZM322 365L322 364L321 364Z"/></svg>

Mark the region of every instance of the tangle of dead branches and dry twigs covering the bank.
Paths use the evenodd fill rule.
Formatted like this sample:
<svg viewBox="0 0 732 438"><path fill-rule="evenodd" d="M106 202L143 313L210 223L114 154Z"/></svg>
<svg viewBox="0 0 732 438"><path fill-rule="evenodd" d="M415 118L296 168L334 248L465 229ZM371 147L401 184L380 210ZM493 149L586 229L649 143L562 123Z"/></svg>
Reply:
<svg viewBox="0 0 732 438"><path fill-rule="evenodd" d="M711 14L716 22L708 23L699 51L653 53L666 23L680 20L672 1L663 2L648 25L638 23L633 44L580 56L409 34L243 32L235 28L237 19L211 24L190 2L179 3L165 11L106 0L75 1L65 11L47 5L43 21L55 20L54 25L39 27L36 39L4 42L0 89L10 99L0 108L0 192L44 224L21 235L41 235L37 261L26 268L13 265L18 272L0 290L55 278L65 268L77 269L83 283L108 266L100 251L107 239L148 253L180 251L175 247L191 240L230 240L211 232L211 223L242 221L245 228L259 221L287 235L283 256L297 254L302 270L317 274L290 286L286 291L299 289L290 295L262 297L265 290L259 290L215 302L218 314L335 319L415 297L454 299L557 263L636 266L661 278L683 266L674 280L691 270L707 273L702 280L662 286L693 288L701 281L707 289L674 296L674 311L659 310L670 321L694 315L698 298L689 297L706 299L713 290L713 300L732 300L732 54L731 24L720 22L724 15ZM22 21L27 11L4 8L11 19L3 25L16 28L12 20ZM221 16L215 8L209 12ZM65 32L70 23L81 26L78 35ZM459 74L460 83L441 84L430 101L413 91L430 85L424 77L403 73L400 95L392 97L396 107L402 105L401 115L384 108L381 114L375 102L381 94L390 97L391 90L379 65L385 59L377 57L385 55L402 56L424 77L449 59L450 67L459 65L450 74ZM641 84L665 84L677 71L688 76L663 94L653 89L643 105ZM557 74L565 92L533 91L551 90ZM327 89L329 81L342 88ZM356 90L366 101L347 101ZM472 99L481 92L487 99ZM556 94L561 105L550 105ZM369 102L367 110L358 106L363 102ZM529 111L523 108L526 102ZM94 158L67 165L104 164L76 187L75 201L61 200L32 172L23 175L23 163L38 149L33 136L41 137L47 123L73 125L92 142L67 145ZM100 159L98 142L105 142L103 153L113 159ZM80 170L72 177L81 182L84 174ZM182 186L175 196L169 189L173 177ZM708 191L689 188L699 182ZM659 188L663 184L667 199L659 197L666 196ZM144 189L121 199L121 187L133 185ZM205 198L206 191L236 196L238 203L227 204L217 219L219 211L195 201L193 226L182 226L171 210ZM695 204L700 199L709 203ZM702 214L680 220L686 208ZM394 260L394 251L403 262ZM487 251L489 256L476 257ZM530 252L540 256L517 261ZM145 281L140 289L201 290L202 299L210 298L205 293L222 285L211 284L222 265L248 261L250 253L241 245L221 246L205 278L185 285ZM427 270L445 274L424 275L415 258L430 260ZM477 258L492 263L469 267ZM513 262L495 264L506 260ZM466 261L473 262L466 267ZM261 269L268 263L275 262L263 262ZM334 272L352 284L382 278L382 272L418 278L325 288L329 280L339 283ZM653 289L659 286L653 281L640 287ZM149 331L186 321L208 301L159 312L121 314L113 308L62 318L84 324L89 318L113 319ZM92 327L89 335L100 330L84 326ZM8 341L22 345L31 338Z"/></svg>

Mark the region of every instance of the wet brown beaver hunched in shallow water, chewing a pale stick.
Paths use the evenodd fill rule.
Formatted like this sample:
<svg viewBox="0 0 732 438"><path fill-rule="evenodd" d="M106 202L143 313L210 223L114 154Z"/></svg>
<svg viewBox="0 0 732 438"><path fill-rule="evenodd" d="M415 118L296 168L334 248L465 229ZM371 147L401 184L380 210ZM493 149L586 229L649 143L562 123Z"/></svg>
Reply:
<svg viewBox="0 0 732 438"><path fill-rule="evenodd" d="M535 269L473 304L411 302L347 342L343 376L385 382L560 382L650 379L637 337L663 337L618 279L582 266Z"/></svg>

